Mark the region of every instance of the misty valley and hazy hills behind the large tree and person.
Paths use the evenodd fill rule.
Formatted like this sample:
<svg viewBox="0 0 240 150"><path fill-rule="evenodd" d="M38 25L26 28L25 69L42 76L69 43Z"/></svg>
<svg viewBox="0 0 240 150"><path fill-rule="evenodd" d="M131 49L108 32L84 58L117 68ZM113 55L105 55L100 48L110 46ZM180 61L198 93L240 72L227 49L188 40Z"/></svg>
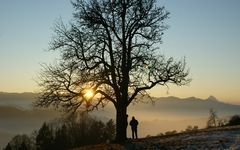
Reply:
<svg viewBox="0 0 240 150"><path fill-rule="evenodd" d="M0 146L6 144L16 134L30 134L40 128L43 122L60 118L59 112L53 110L33 109L34 93L0 92ZM216 100L177 97L156 98L155 104L138 103L128 108L128 120L135 116L139 121L139 137L157 135L166 131L185 130L188 125L206 127L209 109L214 108L220 118L240 114L240 105L232 105ZM224 108L224 109L223 109ZM115 120L115 109L108 105L95 110L91 115L107 121ZM128 137L130 136L128 127Z"/></svg>

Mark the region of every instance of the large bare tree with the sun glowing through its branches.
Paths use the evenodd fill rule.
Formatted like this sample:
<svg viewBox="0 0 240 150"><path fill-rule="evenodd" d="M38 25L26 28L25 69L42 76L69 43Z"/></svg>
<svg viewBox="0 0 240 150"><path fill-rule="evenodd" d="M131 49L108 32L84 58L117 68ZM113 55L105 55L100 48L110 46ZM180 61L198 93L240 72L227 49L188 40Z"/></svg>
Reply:
<svg viewBox="0 0 240 150"><path fill-rule="evenodd" d="M160 55L169 13L156 0L75 0L69 25L59 21L50 49L55 66L44 66L38 106L67 111L116 108L116 140L126 139L127 107L137 95L167 83L189 83L185 60ZM89 92L89 90L92 91Z"/></svg>

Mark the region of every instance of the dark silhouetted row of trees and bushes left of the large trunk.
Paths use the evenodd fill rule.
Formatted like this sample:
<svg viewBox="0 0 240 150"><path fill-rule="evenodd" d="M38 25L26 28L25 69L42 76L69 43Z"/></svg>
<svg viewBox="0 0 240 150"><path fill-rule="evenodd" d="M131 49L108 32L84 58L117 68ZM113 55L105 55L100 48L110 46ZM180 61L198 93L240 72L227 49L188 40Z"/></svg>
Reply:
<svg viewBox="0 0 240 150"><path fill-rule="evenodd" d="M5 150L66 150L90 144L106 143L115 138L115 123L104 123L86 115L44 123L31 136L17 135Z"/></svg>

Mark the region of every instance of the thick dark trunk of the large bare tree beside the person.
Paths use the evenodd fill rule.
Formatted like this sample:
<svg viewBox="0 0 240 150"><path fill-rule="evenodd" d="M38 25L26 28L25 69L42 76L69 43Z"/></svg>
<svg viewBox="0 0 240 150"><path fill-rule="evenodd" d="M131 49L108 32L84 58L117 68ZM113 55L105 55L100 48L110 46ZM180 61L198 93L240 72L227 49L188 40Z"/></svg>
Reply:
<svg viewBox="0 0 240 150"><path fill-rule="evenodd" d="M116 142L124 142L127 139L127 107L120 104L116 107Z"/></svg>

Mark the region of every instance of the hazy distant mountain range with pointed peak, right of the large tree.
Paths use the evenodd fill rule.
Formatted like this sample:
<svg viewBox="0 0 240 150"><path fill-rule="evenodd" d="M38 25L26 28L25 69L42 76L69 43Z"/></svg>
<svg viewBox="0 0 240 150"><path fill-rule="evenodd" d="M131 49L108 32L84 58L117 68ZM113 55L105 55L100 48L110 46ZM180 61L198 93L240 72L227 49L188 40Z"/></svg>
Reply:
<svg viewBox="0 0 240 150"><path fill-rule="evenodd" d="M195 97L160 97L153 98L153 101L153 104L137 104L129 108L134 112L152 112L163 118L168 116L187 118L207 117L210 109L216 111L219 116L230 116L240 113L240 105L222 102L214 96L209 96L207 99Z"/></svg>

